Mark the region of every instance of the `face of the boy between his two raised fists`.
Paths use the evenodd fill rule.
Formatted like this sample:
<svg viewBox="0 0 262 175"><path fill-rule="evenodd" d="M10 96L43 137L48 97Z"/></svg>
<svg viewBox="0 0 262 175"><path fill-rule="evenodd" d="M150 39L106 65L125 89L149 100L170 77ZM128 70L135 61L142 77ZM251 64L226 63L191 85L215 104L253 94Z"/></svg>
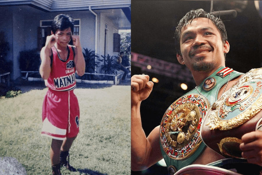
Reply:
<svg viewBox="0 0 262 175"><path fill-rule="evenodd" d="M71 28L69 27L68 29L65 29L63 31L58 29L56 30L55 36L57 38L57 43L62 47L66 47L71 40Z"/></svg>

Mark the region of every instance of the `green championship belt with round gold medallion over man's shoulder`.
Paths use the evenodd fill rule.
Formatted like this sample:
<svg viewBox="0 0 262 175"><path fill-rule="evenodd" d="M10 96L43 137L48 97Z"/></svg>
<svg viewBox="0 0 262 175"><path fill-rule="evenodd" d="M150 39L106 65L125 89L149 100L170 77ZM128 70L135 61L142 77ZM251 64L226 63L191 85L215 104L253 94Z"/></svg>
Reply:
<svg viewBox="0 0 262 175"><path fill-rule="evenodd" d="M206 148L200 137L201 123L217 99L219 89L241 74L220 67L169 106L160 124L160 148L168 171L176 172L201 155Z"/></svg>

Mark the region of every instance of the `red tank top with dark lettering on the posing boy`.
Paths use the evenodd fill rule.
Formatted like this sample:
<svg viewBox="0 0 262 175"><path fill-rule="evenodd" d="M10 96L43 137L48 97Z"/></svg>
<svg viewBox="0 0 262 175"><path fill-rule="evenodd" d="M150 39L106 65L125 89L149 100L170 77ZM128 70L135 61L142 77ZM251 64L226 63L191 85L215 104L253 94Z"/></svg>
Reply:
<svg viewBox="0 0 262 175"><path fill-rule="evenodd" d="M46 86L57 91L70 91L75 89L75 54L72 46L68 45L68 57L66 61L61 60L54 46L51 50L51 72L49 78L45 81Z"/></svg>

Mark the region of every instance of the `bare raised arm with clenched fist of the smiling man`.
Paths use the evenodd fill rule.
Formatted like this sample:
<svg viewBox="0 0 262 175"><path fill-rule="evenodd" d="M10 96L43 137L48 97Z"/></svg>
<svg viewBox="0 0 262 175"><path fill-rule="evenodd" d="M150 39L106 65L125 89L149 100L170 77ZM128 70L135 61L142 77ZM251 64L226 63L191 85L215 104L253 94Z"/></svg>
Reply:
<svg viewBox="0 0 262 175"><path fill-rule="evenodd" d="M134 75L131 78L131 169L141 171L161 160L159 143L160 127L146 137L140 117L140 104L153 89L149 76Z"/></svg>

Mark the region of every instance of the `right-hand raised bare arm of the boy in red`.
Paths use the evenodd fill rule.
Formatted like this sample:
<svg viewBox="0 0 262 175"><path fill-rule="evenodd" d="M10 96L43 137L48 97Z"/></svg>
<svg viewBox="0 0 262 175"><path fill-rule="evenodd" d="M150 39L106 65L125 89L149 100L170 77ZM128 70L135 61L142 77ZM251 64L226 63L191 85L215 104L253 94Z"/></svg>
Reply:
<svg viewBox="0 0 262 175"><path fill-rule="evenodd" d="M75 58L74 58L75 69L77 75L83 76L85 74L86 63L85 63L84 55L82 53L82 47L80 44L79 36L72 35L72 40L75 48Z"/></svg>

